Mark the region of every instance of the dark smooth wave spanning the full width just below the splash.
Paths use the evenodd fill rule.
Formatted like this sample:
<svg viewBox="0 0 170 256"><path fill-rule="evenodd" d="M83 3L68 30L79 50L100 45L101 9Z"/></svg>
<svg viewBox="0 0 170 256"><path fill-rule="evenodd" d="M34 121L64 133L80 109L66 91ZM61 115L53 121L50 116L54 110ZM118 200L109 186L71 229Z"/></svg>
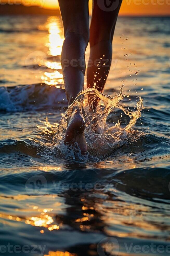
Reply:
<svg viewBox="0 0 170 256"><path fill-rule="evenodd" d="M30 177L34 175L41 175L45 178L48 183L47 194L55 194L56 184L66 183L71 185L73 182L80 184L83 181L83 188L89 182L93 185L96 183L103 184L103 191L106 193L113 193L113 187L116 189L131 195L136 198L147 199L149 201L155 201L169 204L169 179L170 169L162 167L146 167L146 168L132 168L123 171L115 171L114 168L105 168L104 171L101 168L86 168L83 171L80 167L75 168L71 172L68 170L61 171L59 167L48 166L48 172L44 172L45 167L32 167L31 170L28 168L17 168L14 172L6 170L0 173L1 184L8 190L9 185L13 185L13 189L17 190L18 185L22 188L22 194L25 192L25 184ZM151 179L152 177L152 179ZM146 182L147 181L147 182ZM105 184L105 185L104 185ZM162 187L164 184L164 187ZM106 186L106 187L105 187ZM63 193L64 188L62 186L58 189L57 193ZM7 193L8 195L8 193ZM127 201L130 199L126 199Z"/></svg>

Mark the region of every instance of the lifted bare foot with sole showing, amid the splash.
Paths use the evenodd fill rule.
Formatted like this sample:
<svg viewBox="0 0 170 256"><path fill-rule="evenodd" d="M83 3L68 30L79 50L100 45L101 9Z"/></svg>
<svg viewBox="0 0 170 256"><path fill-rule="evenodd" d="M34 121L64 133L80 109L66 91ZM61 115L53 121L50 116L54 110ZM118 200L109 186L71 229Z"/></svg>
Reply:
<svg viewBox="0 0 170 256"><path fill-rule="evenodd" d="M87 144L84 137L85 127L86 124L80 109L75 109L67 123L64 144L73 145L77 142L82 155L87 152Z"/></svg>

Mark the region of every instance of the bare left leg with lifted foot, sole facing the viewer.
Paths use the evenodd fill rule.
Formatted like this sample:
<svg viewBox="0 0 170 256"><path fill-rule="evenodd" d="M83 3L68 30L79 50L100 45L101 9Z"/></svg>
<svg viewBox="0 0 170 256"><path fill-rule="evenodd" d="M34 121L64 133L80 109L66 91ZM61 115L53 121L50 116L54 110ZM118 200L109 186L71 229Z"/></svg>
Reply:
<svg viewBox="0 0 170 256"><path fill-rule="evenodd" d="M84 88L85 50L89 42L88 0L59 0L65 40L61 54L64 87L69 105ZM77 142L82 154L87 151L85 121L80 109L68 120L65 144Z"/></svg>

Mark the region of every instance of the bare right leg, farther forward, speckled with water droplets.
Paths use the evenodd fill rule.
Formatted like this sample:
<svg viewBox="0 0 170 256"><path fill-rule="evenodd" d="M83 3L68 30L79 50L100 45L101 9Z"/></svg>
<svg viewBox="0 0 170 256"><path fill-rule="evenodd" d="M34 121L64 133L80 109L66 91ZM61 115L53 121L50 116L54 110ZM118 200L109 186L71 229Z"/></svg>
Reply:
<svg viewBox="0 0 170 256"><path fill-rule="evenodd" d="M93 0L87 87L92 88L95 83L95 88L100 92L103 91L112 62L112 40L121 2L120 0L115 10L103 11L98 6L97 0ZM93 102L94 109L96 108L98 100L99 99L96 98Z"/></svg>

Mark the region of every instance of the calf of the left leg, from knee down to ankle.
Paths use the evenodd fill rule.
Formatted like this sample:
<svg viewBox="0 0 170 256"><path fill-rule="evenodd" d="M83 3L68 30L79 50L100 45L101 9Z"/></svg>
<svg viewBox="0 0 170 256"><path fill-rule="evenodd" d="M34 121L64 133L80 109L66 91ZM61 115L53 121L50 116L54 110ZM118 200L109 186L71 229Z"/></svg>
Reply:
<svg viewBox="0 0 170 256"><path fill-rule="evenodd" d="M84 38L84 36L74 32L67 33L63 43L61 64L69 105L84 88L85 50L87 44L88 38Z"/></svg>

